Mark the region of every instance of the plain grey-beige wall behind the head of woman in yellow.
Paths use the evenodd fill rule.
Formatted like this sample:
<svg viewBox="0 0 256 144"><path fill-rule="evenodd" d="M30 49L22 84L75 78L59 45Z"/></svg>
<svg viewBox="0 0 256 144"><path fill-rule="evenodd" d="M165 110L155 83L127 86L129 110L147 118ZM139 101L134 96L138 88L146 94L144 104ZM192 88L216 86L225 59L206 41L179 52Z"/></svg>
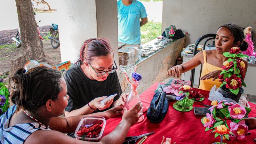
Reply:
<svg viewBox="0 0 256 144"><path fill-rule="evenodd" d="M255 0L164 0L162 31L172 24L188 32L186 46L229 22L256 31L255 7Z"/></svg>

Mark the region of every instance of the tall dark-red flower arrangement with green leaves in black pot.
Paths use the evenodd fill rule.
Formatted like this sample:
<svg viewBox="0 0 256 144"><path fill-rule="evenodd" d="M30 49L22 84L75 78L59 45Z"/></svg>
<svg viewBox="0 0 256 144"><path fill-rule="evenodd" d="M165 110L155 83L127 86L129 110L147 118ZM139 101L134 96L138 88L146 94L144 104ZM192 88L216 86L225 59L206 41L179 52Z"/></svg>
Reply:
<svg viewBox="0 0 256 144"><path fill-rule="evenodd" d="M220 93L223 97L230 98L239 101L241 94L244 92L242 86L246 87L244 83L243 70L245 68L245 63L242 59L248 57L248 55L243 54L239 47L232 47L229 52L224 52L223 55L229 59L223 62L223 71L219 75L220 82Z"/></svg>

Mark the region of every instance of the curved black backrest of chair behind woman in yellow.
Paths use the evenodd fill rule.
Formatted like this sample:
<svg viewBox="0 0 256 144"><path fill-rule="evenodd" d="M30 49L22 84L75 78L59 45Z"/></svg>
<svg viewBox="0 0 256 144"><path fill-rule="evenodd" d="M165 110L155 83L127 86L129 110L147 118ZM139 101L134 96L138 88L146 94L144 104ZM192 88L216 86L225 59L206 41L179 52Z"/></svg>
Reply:
<svg viewBox="0 0 256 144"><path fill-rule="evenodd" d="M205 49L205 45L206 43L209 41L209 40L212 40L212 39L215 39L216 37L216 34L207 34L207 35L204 35L204 36L201 36L197 41L196 41L196 44L195 44L195 47L194 47L194 50L193 50L193 57L196 55L196 52L197 52L197 46L199 45L199 43L206 39L204 41L204 46L202 48L202 51ZM190 75L190 81L191 81L191 86L193 87L194 86L194 78L195 78L195 69L192 69L191 70L191 75ZM201 70L200 70L200 76L199 76L199 85L200 85L200 77L201 77L201 73L202 73L202 67L201 67Z"/></svg>

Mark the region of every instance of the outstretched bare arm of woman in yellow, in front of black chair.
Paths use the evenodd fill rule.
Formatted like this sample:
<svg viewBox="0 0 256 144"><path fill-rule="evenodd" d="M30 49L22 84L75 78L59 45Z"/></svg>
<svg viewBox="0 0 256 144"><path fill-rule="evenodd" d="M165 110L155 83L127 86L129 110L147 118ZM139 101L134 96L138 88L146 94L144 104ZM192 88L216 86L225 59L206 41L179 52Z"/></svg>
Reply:
<svg viewBox="0 0 256 144"><path fill-rule="evenodd" d="M192 59L184 62L181 65L174 66L167 71L167 75L179 77L181 73L185 73L193 68L196 68L199 64L203 63L204 54L203 51L198 52Z"/></svg>

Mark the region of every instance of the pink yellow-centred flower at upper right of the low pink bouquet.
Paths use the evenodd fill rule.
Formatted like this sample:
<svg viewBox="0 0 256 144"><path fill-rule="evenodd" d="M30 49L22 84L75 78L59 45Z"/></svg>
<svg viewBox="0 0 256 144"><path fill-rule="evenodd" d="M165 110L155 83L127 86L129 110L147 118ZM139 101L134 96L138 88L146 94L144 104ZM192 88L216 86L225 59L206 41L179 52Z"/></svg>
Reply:
<svg viewBox="0 0 256 144"><path fill-rule="evenodd" d="M238 103L228 107L230 117L235 119L242 119L246 114L246 109L240 106Z"/></svg>

